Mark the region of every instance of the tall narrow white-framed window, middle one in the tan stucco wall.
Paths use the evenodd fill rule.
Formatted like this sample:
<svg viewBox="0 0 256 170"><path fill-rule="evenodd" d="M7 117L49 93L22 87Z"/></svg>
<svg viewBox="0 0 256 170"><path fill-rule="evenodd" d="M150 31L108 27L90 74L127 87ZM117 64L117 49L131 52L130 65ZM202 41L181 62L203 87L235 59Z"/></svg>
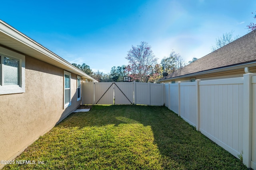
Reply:
<svg viewBox="0 0 256 170"><path fill-rule="evenodd" d="M64 71L64 109L71 105L71 73Z"/></svg>

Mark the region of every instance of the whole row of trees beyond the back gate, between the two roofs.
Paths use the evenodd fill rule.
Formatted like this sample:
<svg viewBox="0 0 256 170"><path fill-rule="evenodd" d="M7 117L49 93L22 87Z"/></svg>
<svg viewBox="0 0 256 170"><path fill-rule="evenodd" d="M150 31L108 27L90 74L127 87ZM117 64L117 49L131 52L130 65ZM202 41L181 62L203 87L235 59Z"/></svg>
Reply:
<svg viewBox="0 0 256 170"><path fill-rule="evenodd" d="M162 78L163 72L170 74L187 64L174 50L171 51L168 57L164 57L160 63L157 63L158 58L154 55L151 46L145 41L137 46L132 45L125 58L128 60L128 65L113 66L108 74L99 70L93 72L90 66L85 63L82 65L73 63L72 65L98 82L122 82L124 76L129 76L131 81L157 83ZM193 58L189 63L196 60L196 58Z"/></svg>

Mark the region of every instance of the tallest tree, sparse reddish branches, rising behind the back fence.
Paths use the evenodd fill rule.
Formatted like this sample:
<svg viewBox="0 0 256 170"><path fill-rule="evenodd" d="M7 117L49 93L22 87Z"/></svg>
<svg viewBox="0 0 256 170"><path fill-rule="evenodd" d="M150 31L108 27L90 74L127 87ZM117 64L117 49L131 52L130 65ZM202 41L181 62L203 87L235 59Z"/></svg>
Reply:
<svg viewBox="0 0 256 170"><path fill-rule="evenodd" d="M125 58L129 61L130 65L127 66L127 70L133 80L148 82L150 67L154 67L157 62L151 46L145 41L142 41L137 47L132 45L132 49L128 51Z"/></svg>

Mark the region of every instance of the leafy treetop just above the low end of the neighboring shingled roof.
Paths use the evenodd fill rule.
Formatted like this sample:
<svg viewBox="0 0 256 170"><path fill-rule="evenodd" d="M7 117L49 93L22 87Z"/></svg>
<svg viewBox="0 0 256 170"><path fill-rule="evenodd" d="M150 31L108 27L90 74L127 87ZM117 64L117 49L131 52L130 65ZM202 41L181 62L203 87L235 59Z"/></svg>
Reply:
<svg viewBox="0 0 256 170"><path fill-rule="evenodd" d="M161 65L164 72L172 73L185 66L185 62L180 54L172 50L169 57L164 57L164 59L161 60Z"/></svg>

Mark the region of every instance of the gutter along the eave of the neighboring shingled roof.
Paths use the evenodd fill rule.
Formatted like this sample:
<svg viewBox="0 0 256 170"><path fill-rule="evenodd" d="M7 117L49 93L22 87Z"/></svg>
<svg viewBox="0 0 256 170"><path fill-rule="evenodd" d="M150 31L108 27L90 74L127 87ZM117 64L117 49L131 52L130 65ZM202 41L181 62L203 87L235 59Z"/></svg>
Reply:
<svg viewBox="0 0 256 170"><path fill-rule="evenodd" d="M236 70L236 69L239 69L239 68L248 68L248 67L252 67L252 66L256 66L256 61L254 61L250 64L239 64L239 65L235 65L235 66L228 66L228 67L225 67L225 68L216 68L216 69L213 69L213 70L196 72L196 73L186 74L186 75L182 75L182 76L176 76L176 77L172 77L172 78L166 78L166 79L163 79L163 80L159 80L158 82L163 82L163 81L166 81L166 80L174 80L174 79L177 79L177 78L187 78L187 77L191 77L191 76L211 74L211 73L228 71L228 70ZM248 68L248 70L250 72L249 68ZM246 72L246 69L245 69L245 72Z"/></svg>

